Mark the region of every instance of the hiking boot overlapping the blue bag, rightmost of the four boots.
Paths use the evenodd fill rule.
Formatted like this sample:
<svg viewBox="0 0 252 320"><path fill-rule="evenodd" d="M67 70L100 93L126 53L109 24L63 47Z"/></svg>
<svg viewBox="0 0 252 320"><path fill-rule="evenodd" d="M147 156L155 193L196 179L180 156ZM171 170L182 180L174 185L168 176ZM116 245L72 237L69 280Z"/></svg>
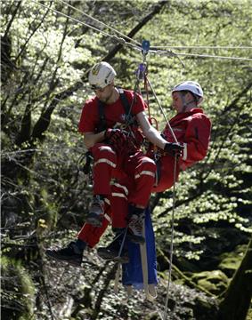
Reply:
<svg viewBox="0 0 252 320"><path fill-rule="evenodd" d="M144 222L144 213L132 214L128 221L127 238L134 244L144 244L145 238L142 236L142 227Z"/></svg>

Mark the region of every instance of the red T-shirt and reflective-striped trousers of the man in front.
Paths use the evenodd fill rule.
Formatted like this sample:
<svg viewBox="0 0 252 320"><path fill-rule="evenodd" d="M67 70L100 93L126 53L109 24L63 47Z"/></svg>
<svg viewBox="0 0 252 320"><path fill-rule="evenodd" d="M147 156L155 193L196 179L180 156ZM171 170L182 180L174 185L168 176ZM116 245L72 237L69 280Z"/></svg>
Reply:
<svg viewBox="0 0 252 320"><path fill-rule="evenodd" d="M131 104L134 98L134 92L124 91L126 99ZM136 100L133 104L131 115L136 116L144 111L145 104L142 97L136 94ZM105 105L104 116L107 128L113 128L115 124L124 124L126 119L125 108L122 101L118 99L113 104ZM79 132L97 132L99 123L101 122L99 115L97 97L87 100L82 110ZM106 196L110 200L112 211L112 226L113 228L125 228L127 214L127 205L124 206L124 212L121 212L121 207L118 206L122 197L126 196L123 202L146 207L152 186L155 181L156 164L148 156L144 156L140 145L142 134L135 126L133 128L135 136L134 154L130 155L128 149L130 145L122 148L122 153L117 154L113 146L105 143L96 143L91 148L93 154L93 194ZM137 132L138 131L138 132ZM128 143L133 141L129 138ZM139 145L139 147L135 147ZM132 146L132 145L131 145ZM112 179L119 178L123 184L113 181ZM111 186L113 188L113 196L111 197ZM131 192L131 189L137 192ZM127 197L127 194L131 195Z"/></svg>

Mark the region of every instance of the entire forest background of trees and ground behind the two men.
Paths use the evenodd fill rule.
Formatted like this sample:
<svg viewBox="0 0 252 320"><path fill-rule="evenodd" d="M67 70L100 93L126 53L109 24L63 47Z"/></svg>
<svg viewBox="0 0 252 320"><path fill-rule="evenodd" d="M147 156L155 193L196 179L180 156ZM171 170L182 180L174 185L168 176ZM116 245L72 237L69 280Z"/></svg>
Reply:
<svg viewBox="0 0 252 320"><path fill-rule="evenodd" d="M100 260L95 249L85 253L82 268L45 258L46 248L77 236L92 199L77 132L93 94L88 70L107 60L118 73L116 84L134 89L142 62L136 42L147 39L163 46L147 61L167 118L174 116L172 87L196 80L213 124L207 157L176 184L167 319L251 320L251 0L7 0L1 16L3 319L160 319L172 190L150 199L159 270L154 304L142 292L126 301L123 287L115 294L117 266ZM134 42L125 37L122 44L124 35ZM166 123L152 94L150 113L161 131ZM101 244L111 237L109 228Z"/></svg>

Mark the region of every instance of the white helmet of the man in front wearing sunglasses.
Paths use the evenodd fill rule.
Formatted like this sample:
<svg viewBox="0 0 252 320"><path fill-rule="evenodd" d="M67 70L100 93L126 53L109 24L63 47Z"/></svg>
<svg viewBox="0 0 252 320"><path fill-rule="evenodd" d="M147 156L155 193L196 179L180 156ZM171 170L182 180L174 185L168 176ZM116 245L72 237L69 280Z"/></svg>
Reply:
<svg viewBox="0 0 252 320"><path fill-rule="evenodd" d="M93 66L88 75L88 82L95 90L102 89L111 84L114 77L117 76L114 68L108 62L99 62Z"/></svg>

